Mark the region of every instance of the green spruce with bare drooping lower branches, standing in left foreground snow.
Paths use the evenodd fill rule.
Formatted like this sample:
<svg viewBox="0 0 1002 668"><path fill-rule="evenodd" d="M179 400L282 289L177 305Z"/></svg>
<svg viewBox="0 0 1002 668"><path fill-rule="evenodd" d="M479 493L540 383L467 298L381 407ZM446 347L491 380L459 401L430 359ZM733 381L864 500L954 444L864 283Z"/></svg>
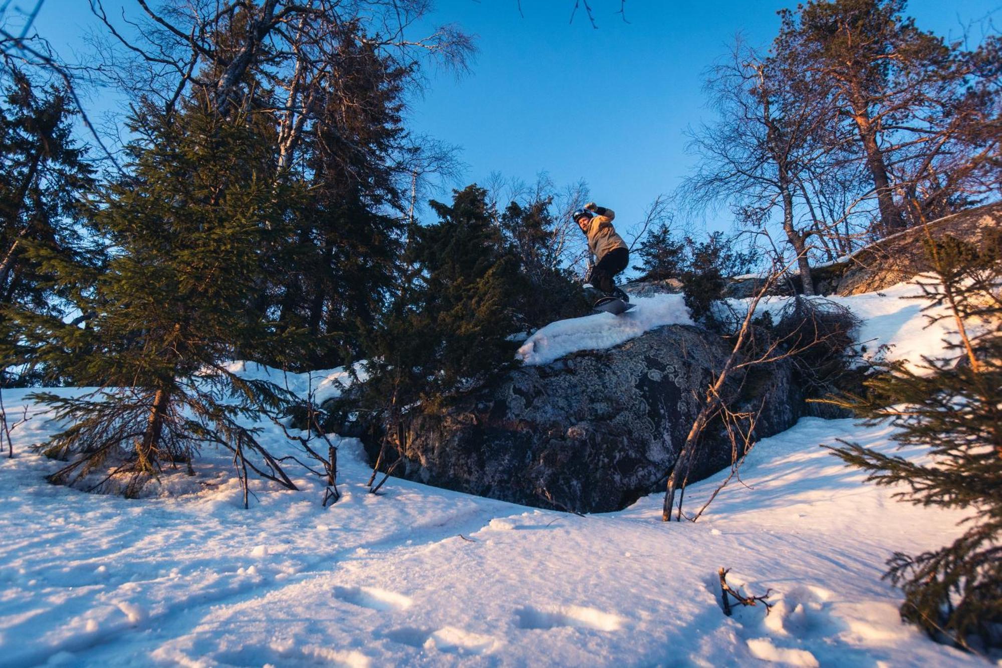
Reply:
<svg viewBox="0 0 1002 668"><path fill-rule="evenodd" d="M140 138L129 146L129 175L93 213L112 257L81 305L94 314L87 327L15 315L29 360L102 388L35 396L68 424L43 445L69 459L50 479L73 482L101 469L105 479L124 476L134 494L164 465L190 465L209 444L233 452L244 483L250 468L295 488L242 424L291 397L225 365L242 342L275 340L253 308L262 256L296 196L274 187L274 130L254 115L223 118L197 103L169 115L147 104L131 129ZM62 284L77 278L57 276Z"/></svg>

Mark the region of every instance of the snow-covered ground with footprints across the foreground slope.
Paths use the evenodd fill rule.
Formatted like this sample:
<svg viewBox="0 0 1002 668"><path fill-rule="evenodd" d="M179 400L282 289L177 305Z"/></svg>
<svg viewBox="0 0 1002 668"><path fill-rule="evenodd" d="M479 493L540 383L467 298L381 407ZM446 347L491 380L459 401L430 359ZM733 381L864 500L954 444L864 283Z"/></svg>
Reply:
<svg viewBox="0 0 1002 668"><path fill-rule="evenodd" d="M870 318L864 337L935 352L938 333L897 290L847 299ZM610 318L590 317L625 325ZM24 394L4 392L10 413ZM659 494L588 517L399 479L369 494L351 439L345 496L327 509L319 481L300 476L301 491L254 482L244 511L212 451L195 492L86 494L44 482L58 462L27 446L54 425L29 414L17 456L0 461L2 666L985 665L902 624L900 594L880 577L892 552L952 540L961 516L897 503L819 447L890 451L886 427L802 419L761 441L744 484L699 522L662 524ZM686 508L721 476L691 485ZM772 612L725 617L720 567L749 594L771 589Z"/></svg>

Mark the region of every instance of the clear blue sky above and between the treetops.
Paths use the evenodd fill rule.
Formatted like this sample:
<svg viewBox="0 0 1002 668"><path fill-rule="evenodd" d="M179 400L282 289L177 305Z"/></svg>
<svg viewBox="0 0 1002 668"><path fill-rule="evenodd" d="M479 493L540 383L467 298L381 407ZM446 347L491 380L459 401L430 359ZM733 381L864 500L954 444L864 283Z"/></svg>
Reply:
<svg viewBox="0 0 1002 668"><path fill-rule="evenodd" d="M119 4L138 11L133 0L105 4L111 13ZM455 23L477 36L479 51L461 77L429 71L410 126L462 147L468 170L457 186L483 183L492 172L529 182L546 172L558 186L584 179L593 199L628 227L692 165L684 130L711 119L701 93L706 67L737 34L768 46L777 10L796 2L628 0L628 23L615 13L619 0L590 4L597 29L583 9L570 22L574 0L521 0L521 12L518 0L437 0L424 25ZM998 24L1002 0L908 5L921 28L954 38L993 12ZM84 48L91 25L87 0L46 0L37 21L64 55ZM98 94L90 103L100 110L111 99ZM725 213L706 224L729 228Z"/></svg>

